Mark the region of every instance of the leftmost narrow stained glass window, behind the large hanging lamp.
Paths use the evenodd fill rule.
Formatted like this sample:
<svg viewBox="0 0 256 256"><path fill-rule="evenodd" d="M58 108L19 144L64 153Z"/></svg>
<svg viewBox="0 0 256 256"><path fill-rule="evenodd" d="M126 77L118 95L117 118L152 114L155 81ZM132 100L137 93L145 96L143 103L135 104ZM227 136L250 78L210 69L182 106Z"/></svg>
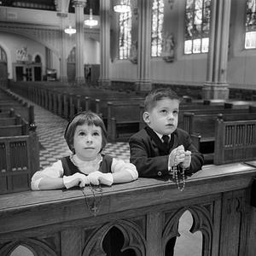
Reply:
<svg viewBox="0 0 256 256"><path fill-rule="evenodd" d="M130 1L129 1L130 4ZM119 59L126 60L131 51L131 11L119 14Z"/></svg>

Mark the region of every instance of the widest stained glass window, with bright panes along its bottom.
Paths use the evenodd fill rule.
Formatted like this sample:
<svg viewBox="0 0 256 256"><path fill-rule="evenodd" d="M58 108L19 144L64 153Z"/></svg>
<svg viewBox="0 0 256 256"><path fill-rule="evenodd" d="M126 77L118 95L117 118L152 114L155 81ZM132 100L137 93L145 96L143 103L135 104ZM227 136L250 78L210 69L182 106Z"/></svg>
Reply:
<svg viewBox="0 0 256 256"><path fill-rule="evenodd" d="M211 0L187 0L184 54L208 52Z"/></svg>

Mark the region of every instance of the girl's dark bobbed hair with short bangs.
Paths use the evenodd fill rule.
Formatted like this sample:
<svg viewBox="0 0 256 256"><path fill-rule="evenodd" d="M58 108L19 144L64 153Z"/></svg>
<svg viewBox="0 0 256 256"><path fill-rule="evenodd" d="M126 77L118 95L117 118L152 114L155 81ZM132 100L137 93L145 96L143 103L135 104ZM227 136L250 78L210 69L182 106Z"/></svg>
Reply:
<svg viewBox="0 0 256 256"><path fill-rule="evenodd" d="M103 120L96 114L91 111L84 111L77 113L76 115L73 116L73 119L69 121L67 124L65 133L64 133L64 138L67 142L68 148L74 153L74 148L73 148L73 137L74 133L76 131L77 126L79 125L96 125L100 126L102 128L102 148L105 148L107 144L107 130L104 125Z"/></svg>

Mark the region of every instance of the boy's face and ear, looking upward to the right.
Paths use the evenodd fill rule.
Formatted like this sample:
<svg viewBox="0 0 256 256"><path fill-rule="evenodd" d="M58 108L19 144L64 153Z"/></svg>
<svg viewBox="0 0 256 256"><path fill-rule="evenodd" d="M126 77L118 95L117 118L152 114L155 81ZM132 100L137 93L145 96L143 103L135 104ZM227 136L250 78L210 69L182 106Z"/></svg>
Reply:
<svg viewBox="0 0 256 256"><path fill-rule="evenodd" d="M154 108L143 113L145 123L162 135L171 134L177 128L178 100L164 98L157 101Z"/></svg>

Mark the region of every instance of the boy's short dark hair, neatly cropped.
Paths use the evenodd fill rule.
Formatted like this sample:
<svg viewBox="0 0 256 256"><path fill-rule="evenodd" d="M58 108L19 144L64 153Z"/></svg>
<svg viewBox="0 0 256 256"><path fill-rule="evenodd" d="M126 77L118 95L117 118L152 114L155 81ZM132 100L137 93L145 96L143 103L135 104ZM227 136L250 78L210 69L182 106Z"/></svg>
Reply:
<svg viewBox="0 0 256 256"><path fill-rule="evenodd" d="M167 88L160 88L151 90L148 95L146 96L146 99L144 101L144 110L150 111L152 108L154 108L156 102L168 98L170 100L177 100L180 102L179 96L177 96L177 93L171 89Z"/></svg>

